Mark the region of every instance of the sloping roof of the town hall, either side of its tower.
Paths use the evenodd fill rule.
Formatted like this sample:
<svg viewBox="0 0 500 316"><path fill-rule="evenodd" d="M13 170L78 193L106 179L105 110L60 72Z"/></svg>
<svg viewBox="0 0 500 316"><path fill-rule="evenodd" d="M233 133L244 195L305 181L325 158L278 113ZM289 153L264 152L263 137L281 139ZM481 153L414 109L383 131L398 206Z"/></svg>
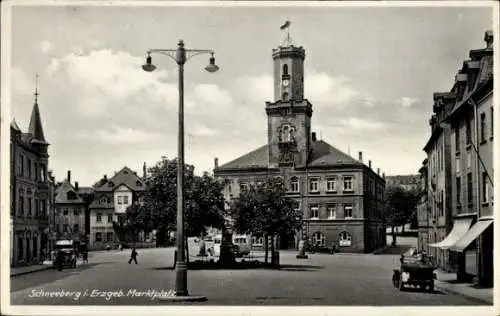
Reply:
<svg viewBox="0 0 500 316"><path fill-rule="evenodd" d="M307 167L326 167L335 165L362 166L363 163L352 158L341 150L331 146L325 141L318 140L311 143L312 150L309 155ZM220 167L218 171L238 169L267 169L269 166L269 146L261 146L239 158L236 158ZM306 167L304 166L298 166Z"/></svg>

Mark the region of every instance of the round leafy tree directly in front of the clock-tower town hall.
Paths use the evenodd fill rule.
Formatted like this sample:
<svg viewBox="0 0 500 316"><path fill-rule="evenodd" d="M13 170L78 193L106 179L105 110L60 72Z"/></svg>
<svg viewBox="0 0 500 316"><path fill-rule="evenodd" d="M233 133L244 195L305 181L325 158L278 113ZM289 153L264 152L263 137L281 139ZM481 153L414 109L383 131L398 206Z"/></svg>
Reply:
<svg viewBox="0 0 500 316"><path fill-rule="evenodd" d="M268 262L268 239L271 238L271 262L274 256L275 236L300 228L302 214L295 210L294 201L286 195L286 186L281 178L268 178L259 186L250 186L240 193L229 208L239 233L264 235L265 261Z"/></svg>

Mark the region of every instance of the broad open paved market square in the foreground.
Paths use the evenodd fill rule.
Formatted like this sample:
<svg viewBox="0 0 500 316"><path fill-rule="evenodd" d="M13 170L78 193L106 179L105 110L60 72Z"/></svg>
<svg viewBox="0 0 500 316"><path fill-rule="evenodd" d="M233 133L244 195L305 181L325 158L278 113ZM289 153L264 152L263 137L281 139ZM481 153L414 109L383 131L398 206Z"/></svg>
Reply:
<svg viewBox="0 0 500 316"><path fill-rule="evenodd" d="M139 264L127 264L128 251L93 253L90 264L62 272L47 270L11 278L11 304L155 305L167 304L128 290L173 289L173 249L140 249ZM295 259L281 252L282 270L197 270L188 272L191 295L207 296L209 305L477 305L445 293L400 292L391 283L397 255L314 254ZM258 254L257 254L258 255ZM91 297L93 290L119 291L121 297ZM60 290L81 292L72 297L30 297ZM87 296L83 293L87 291ZM97 292L94 292L97 294ZM136 294L138 294L136 292Z"/></svg>

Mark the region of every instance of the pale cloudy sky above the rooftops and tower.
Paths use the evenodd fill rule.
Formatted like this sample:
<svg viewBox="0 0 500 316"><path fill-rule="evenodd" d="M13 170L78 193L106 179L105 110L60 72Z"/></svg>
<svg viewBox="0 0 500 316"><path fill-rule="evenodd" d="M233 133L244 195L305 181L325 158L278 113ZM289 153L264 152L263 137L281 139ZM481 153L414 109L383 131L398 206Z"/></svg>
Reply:
<svg viewBox="0 0 500 316"><path fill-rule="evenodd" d="M259 5L259 6L257 6ZM177 155L177 65L150 48L213 49L185 65L186 162L212 171L267 142L272 49L280 25L306 50L312 130L386 175L414 174L430 136L432 94L449 91L470 49L485 47L488 7L15 6L11 116L38 104L57 181L90 186L123 166Z"/></svg>

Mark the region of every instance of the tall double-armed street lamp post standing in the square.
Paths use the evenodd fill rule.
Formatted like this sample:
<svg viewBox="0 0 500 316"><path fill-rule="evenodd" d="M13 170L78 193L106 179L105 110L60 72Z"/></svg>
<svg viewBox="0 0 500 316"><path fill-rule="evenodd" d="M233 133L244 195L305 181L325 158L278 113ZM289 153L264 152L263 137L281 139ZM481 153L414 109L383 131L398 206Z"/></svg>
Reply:
<svg viewBox="0 0 500 316"><path fill-rule="evenodd" d="M201 54L210 54L209 64L205 67L208 72L216 72L219 67L215 64L214 52L207 49L185 49L182 40L177 49L150 49L146 64L142 69L152 72L156 66L151 62L151 53L159 53L173 59L179 71L179 129L178 129L178 157L177 157L177 258L175 262L175 293L177 297L187 297L187 265L184 243L184 64L191 57Z"/></svg>

